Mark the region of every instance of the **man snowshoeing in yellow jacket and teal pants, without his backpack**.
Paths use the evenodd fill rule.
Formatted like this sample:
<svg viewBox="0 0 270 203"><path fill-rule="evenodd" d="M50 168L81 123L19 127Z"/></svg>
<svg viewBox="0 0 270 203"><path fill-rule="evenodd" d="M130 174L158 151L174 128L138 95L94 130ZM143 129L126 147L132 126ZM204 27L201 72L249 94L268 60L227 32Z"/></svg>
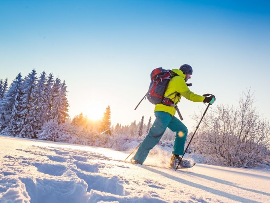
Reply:
<svg viewBox="0 0 270 203"><path fill-rule="evenodd" d="M166 97L169 95L169 98L174 101L175 105L177 105L182 96L193 102L214 103L214 96L201 96L193 93L188 88L186 82L191 78L193 72L190 65L181 65L179 69L172 69L172 72L175 73L176 76L174 76L169 82L164 96ZM176 93L174 94L173 92ZM131 159L131 162L143 164L149 151L159 143L166 128L168 127L171 131L176 133L172 156L170 158L170 168L173 168L177 166L181 159L181 155L184 153L188 129L178 118L174 116L175 107L156 104L154 112L156 119L149 130L149 133L146 135L141 145L139 145L135 156ZM187 160L181 161L181 165L183 167L188 167L189 164L190 163Z"/></svg>

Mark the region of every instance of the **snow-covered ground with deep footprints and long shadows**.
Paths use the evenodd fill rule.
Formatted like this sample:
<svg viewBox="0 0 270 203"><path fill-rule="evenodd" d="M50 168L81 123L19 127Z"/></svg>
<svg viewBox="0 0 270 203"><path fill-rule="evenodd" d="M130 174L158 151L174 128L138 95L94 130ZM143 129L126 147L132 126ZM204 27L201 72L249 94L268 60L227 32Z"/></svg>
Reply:
<svg viewBox="0 0 270 203"><path fill-rule="evenodd" d="M270 202L268 169L125 163L128 153L0 136L1 203Z"/></svg>

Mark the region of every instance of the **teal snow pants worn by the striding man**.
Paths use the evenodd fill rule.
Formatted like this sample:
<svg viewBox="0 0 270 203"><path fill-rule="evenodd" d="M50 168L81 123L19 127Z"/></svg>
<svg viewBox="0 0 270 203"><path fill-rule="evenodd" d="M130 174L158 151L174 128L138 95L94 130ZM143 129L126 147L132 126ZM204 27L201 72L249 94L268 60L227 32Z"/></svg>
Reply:
<svg viewBox="0 0 270 203"><path fill-rule="evenodd" d="M140 164L145 161L149 151L159 143L167 127L176 132L172 154L183 155L184 153L188 134L187 127L178 118L171 116L167 112L157 111L155 116L156 120L133 157Z"/></svg>

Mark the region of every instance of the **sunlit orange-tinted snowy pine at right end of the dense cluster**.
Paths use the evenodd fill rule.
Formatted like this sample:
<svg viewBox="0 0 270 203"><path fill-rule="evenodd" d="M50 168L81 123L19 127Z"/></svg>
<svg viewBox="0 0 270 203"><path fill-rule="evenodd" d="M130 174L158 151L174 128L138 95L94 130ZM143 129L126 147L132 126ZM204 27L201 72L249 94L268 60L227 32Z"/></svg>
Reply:
<svg viewBox="0 0 270 203"><path fill-rule="evenodd" d="M52 107L52 120L58 124L65 123L68 119L68 99L66 82L61 85L59 78L56 79L54 85L54 102Z"/></svg>

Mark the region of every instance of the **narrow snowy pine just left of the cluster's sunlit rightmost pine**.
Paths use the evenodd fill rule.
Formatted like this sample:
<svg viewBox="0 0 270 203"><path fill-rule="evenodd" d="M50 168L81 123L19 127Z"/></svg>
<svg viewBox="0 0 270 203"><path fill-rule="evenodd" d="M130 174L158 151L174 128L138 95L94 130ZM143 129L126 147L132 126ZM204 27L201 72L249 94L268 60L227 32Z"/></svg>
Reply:
<svg viewBox="0 0 270 203"><path fill-rule="evenodd" d="M50 121L52 118L52 102L53 102L53 86L54 86L54 76L52 73L48 75L47 83L45 88L45 111L46 111L46 121Z"/></svg>

